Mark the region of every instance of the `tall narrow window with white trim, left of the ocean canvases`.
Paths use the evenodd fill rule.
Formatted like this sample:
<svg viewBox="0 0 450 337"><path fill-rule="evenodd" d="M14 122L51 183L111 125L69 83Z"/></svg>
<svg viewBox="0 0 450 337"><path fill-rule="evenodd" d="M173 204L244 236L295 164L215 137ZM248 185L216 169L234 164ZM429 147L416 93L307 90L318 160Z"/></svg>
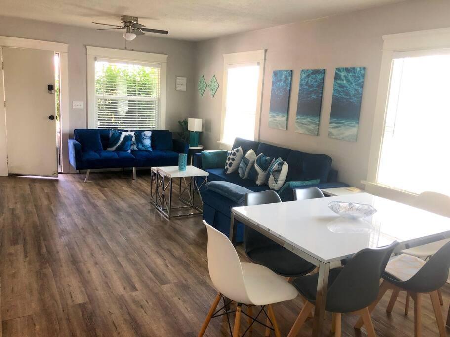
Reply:
<svg viewBox="0 0 450 337"><path fill-rule="evenodd" d="M224 55L221 148L259 138L265 50Z"/></svg>

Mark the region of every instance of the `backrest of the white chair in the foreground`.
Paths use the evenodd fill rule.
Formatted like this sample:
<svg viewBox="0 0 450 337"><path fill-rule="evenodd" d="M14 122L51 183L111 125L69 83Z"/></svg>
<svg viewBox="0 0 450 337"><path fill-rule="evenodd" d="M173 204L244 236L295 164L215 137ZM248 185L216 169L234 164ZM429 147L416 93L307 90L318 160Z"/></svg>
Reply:
<svg viewBox="0 0 450 337"><path fill-rule="evenodd" d="M251 303L245 290L241 261L231 241L217 229L203 223L208 231L208 269L214 287L238 303Z"/></svg>

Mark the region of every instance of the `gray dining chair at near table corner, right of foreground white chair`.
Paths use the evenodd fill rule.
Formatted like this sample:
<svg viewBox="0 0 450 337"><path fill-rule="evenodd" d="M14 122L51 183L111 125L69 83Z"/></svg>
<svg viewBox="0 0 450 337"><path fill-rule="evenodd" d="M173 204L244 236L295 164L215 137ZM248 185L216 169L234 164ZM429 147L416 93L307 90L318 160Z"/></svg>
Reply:
<svg viewBox="0 0 450 337"><path fill-rule="evenodd" d="M325 310L333 313L331 331L336 336L341 335L342 313L360 315L368 336L375 336L369 305L377 299L381 275L397 244L398 242L394 241L389 246L363 249L356 253L344 267L330 269ZM299 277L292 282L307 301L288 337L297 335L313 310L316 303L318 278L319 274L313 274Z"/></svg>

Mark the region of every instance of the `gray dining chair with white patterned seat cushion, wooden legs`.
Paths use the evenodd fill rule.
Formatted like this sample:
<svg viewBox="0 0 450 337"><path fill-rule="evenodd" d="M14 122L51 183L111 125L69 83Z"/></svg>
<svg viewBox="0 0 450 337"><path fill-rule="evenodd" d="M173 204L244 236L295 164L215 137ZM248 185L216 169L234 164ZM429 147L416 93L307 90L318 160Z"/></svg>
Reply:
<svg viewBox="0 0 450 337"><path fill-rule="evenodd" d="M395 256L387 264L386 271L383 274L383 283L380 286L380 293L377 300L370 305L369 311L375 309L387 290L392 289L391 300L386 309L387 312L391 312L399 292L406 291L414 300L414 335L421 336L422 296L429 294L438 324L439 335L441 337L447 336L437 291L446 283L449 267L450 242L439 249L428 262L407 254ZM361 326L362 321L360 319L356 322L355 328L359 329Z"/></svg>

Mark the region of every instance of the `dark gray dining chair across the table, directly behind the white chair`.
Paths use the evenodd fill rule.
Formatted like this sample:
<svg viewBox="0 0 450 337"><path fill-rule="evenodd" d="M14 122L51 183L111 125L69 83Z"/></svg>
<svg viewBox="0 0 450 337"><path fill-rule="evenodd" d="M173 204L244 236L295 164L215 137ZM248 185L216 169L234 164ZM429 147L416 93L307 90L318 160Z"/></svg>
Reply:
<svg viewBox="0 0 450 337"><path fill-rule="evenodd" d="M277 192L267 190L246 193L244 205L253 206L277 202L281 202ZM244 227L244 250L252 262L262 264L285 277L306 275L316 268L314 264L300 258L282 245L248 226Z"/></svg>

